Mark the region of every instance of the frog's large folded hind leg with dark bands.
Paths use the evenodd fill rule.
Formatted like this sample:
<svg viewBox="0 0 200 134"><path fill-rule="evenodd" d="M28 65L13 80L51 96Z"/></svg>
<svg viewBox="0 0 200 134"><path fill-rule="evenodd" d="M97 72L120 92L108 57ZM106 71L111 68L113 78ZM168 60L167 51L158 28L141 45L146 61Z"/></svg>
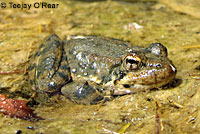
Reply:
<svg viewBox="0 0 200 134"><path fill-rule="evenodd" d="M30 58L29 79L32 89L57 92L70 79L70 68L63 51L62 41L50 36Z"/></svg>

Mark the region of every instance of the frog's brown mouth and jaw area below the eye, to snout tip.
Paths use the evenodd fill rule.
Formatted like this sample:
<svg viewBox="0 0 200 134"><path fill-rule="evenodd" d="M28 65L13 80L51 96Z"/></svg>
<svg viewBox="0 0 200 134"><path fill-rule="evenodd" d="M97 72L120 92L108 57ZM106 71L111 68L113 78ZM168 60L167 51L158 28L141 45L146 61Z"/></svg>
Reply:
<svg viewBox="0 0 200 134"><path fill-rule="evenodd" d="M136 72L128 72L121 79L115 80L115 85L120 85L115 89L114 95L123 95L158 88L172 81L176 75L176 68L173 64L165 65L160 69L145 69Z"/></svg>

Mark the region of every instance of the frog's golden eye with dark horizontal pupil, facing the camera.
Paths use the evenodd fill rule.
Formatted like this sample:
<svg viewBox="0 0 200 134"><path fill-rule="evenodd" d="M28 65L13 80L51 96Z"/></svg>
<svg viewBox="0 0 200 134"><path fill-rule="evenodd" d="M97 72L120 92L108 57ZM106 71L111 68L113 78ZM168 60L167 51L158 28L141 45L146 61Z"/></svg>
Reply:
<svg viewBox="0 0 200 134"><path fill-rule="evenodd" d="M124 67L126 70L136 70L141 65L141 59L133 54L129 54L124 58Z"/></svg>

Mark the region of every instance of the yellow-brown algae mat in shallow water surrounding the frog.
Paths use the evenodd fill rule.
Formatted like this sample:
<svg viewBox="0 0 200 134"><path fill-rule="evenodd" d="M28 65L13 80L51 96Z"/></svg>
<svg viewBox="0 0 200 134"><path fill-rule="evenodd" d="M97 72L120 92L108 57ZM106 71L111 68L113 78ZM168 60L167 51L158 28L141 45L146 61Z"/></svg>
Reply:
<svg viewBox="0 0 200 134"><path fill-rule="evenodd" d="M200 7L185 0L180 9L178 0L169 0L170 4L166 1L48 1L59 7L0 8L0 72L21 70L0 75L0 93L10 97L19 98L22 95L18 92L28 90L23 73L28 55L51 33L62 39L77 34L102 35L139 46L160 42L168 48L169 58L178 70L175 86L121 96L103 106L62 100L53 106L35 108L45 118L39 122L0 115L0 133L114 133L121 132L128 123L131 125L124 130L127 134L199 133L200 18L195 10ZM188 7L190 10L184 10Z"/></svg>

